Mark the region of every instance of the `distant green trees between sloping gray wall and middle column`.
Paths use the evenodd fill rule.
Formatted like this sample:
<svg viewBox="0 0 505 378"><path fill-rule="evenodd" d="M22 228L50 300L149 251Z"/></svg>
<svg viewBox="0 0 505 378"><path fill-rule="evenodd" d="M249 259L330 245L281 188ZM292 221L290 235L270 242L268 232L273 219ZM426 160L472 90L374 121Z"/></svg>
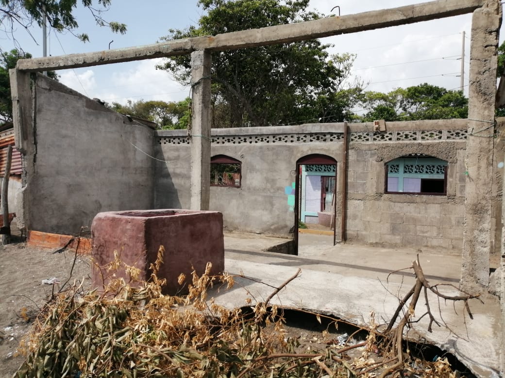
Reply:
<svg viewBox="0 0 505 378"><path fill-rule="evenodd" d="M128 100L126 105L114 102L110 108L118 113L156 122L159 129L185 129L189 121L189 98L178 102Z"/></svg>

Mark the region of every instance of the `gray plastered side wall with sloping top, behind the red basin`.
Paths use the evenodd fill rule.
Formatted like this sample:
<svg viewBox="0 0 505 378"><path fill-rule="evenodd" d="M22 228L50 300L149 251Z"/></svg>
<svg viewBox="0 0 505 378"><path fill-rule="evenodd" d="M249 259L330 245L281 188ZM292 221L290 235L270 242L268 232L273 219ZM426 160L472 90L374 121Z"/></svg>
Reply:
<svg viewBox="0 0 505 378"><path fill-rule="evenodd" d="M98 212L150 209L154 164L143 152L151 154L154 131L43 75L34 80L25 227L75 234Z"/></svg>

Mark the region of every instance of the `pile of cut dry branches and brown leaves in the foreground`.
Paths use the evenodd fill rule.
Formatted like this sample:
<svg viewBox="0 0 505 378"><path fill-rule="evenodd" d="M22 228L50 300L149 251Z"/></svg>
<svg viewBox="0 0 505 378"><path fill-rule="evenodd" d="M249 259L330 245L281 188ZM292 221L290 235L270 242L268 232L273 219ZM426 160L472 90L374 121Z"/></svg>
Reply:
<svg viewBox="0 0 505 378"><path fill-rule="evenodd" d="M26 360L15 377L349 377L377 376L377 371L385 376L400 371L406 361L401 335L410 322L408 313L394 329L391 321L383 335L384 355L377 361L368 359L377 349L376 329L356 345L300 353L298 339L286 335L282 309L269 304L299 271L267 300L251 304L252 314L244 314L207 298L212 285L234 283L229 275L210 276L210 265L200 277L193 272L187 296L163 295L164 280L157 277L163 252L161 247L151 266L154 273L141 288L116 280L102 295L84 293L78 285L54 295L22 343ZM116 257L111 268L121 264ZM138 270L127 270L135 280ZM418 282L424 281L418 276ZM411 295L419 296L422 287L432 289L416 284ZM343 353L358 347L363 356L347 362ZM430 376L450 371L444 360L425 366Z"/></svg>

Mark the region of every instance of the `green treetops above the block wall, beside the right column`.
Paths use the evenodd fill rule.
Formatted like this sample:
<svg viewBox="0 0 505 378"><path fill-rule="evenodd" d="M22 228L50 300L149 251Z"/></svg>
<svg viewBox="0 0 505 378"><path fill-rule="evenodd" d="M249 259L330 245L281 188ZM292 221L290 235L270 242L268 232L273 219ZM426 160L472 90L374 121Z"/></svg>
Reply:
<svg viewBox="0 0 505 378"><path fill-rule="evenodd" d="M427 83L389 93L365 92L360 105L368 110L360 118L362 121L468 117L468 98L462 91L448 91Z"/></svg>

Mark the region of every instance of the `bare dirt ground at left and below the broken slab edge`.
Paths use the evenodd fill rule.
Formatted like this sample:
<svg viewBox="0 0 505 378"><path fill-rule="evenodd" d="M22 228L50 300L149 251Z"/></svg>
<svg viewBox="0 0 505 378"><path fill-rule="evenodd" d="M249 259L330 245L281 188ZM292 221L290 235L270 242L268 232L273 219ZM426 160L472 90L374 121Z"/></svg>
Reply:
<svg viewBox="0 0 505 378"><path fill-rule="evenodd" d="M63 253L27 246L24 242L0 245L0 378L11 377L24 360L16 353L19 342L28 333L32 322L51 297L74 281L90 285L90 262L87 256L77 256L72 249ZM42 280L56 278L59 283L44 284ZM68 283L65 284L68 280ZM292 312L292 313L291 313ZM312 316L299 311L286 311L286 336L298 338L297 352L321 351L328 347L342 347L342 334L353 334L354 327L335 330L333 323L323 319L322 324ZM320 321L320 320L319 320ZM328 322L330 325L328 325ZM330 334L323 336L325 329ZM366 334L355 335L350 344L364 340ZM345 340L345 338L344 338ZM360 358L363 348L353 349L344 356L349 362ZM374 356L372 356L374 357ZM375 356L377 357L377 356Z"/></svg>

